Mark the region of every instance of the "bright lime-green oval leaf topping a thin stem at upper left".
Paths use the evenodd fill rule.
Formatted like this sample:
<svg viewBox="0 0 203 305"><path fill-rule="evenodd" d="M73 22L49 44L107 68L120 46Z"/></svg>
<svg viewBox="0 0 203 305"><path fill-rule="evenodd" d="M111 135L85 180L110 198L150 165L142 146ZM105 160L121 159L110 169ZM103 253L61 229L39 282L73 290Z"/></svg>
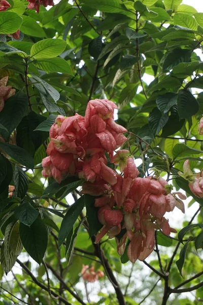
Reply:
<svg viewBox="0 0 203 305"><path fill-rule="evenodd" d="M35 58L52 58L60 55L66 47L61 39L44 39L31 47L30 56Z"/></svg>

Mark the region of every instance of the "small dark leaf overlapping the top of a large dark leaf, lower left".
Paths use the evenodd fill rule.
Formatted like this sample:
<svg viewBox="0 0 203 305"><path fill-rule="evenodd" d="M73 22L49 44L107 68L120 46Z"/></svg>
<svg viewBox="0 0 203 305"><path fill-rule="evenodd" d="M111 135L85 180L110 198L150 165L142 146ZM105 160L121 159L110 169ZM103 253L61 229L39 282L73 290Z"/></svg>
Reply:
<svg viewBox="0 0 203 305"><path fill-rule="evenodd" d="M15 208L14 215L24 225L31 226L40 213L29 202L24 202Z"/></svg>

